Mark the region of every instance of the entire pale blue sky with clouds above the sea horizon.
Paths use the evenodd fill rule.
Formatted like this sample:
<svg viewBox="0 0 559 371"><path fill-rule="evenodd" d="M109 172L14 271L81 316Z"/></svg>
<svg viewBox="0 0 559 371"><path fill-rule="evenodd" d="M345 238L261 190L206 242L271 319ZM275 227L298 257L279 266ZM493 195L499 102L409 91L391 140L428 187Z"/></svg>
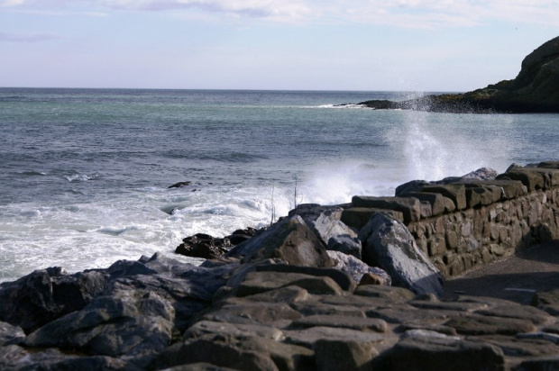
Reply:
<svg viewBox="0 0 559 371"><path fill-rule="evenodd" d="M559 0L0 0L0 86L463 92Z"/></svg>

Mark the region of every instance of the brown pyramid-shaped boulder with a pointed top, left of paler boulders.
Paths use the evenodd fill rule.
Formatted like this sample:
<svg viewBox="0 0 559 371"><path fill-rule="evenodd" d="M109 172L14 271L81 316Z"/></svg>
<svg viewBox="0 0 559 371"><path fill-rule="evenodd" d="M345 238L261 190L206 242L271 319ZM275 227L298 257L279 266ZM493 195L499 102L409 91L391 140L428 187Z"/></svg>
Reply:
<svg viewBox="0 0 559 371"><path fill-rule="evenodd" d="M332 267L325 245L299 215L276 222L266 231L235 246L227 257L243 257L243 262L280 258L295 266Z"/></svg>

